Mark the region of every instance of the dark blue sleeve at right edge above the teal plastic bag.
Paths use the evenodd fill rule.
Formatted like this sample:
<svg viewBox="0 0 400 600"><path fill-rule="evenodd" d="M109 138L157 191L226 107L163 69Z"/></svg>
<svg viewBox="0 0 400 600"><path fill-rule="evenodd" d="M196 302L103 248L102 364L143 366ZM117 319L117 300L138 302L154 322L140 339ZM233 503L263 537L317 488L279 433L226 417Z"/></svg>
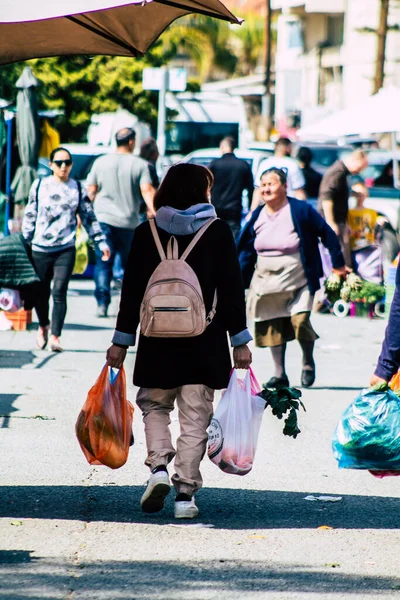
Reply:
<svg viewBox="0 0 400 600"><path fill-rule="evenodd" d="M382 352L375 375L389 381L400 368L400 265L396 271L396 291L390 307Z"/></svg>

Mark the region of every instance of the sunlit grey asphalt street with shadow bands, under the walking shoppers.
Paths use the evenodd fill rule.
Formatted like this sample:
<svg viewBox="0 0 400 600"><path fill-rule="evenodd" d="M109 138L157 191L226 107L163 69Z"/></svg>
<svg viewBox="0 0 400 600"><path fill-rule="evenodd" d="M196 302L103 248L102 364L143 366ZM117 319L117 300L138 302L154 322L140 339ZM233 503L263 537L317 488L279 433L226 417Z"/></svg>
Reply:
<svg viewBox="0 0 400 600"><path fill-rule="evenodd" d="M227 475L206 458L200 515L175 522L172 494L161 513L140 511L148 472L139 411L119 470L90 467L76 441L118 301L114 316L96 319L92 285L72 284L63 354L35 350L34 329L0 332L0 598L399 598L400 478L339 470L330 447L341 412L368 384L385 322L313 317L317 381L304 391L301 434L283 436L266 411L251 473ZM260 382L271 376L267 351L254 352L254 369ZM298 385L295 343L288 373ZM134 400L132 385L128 392ZM176 436L175 414L172 429Z"/></svg>

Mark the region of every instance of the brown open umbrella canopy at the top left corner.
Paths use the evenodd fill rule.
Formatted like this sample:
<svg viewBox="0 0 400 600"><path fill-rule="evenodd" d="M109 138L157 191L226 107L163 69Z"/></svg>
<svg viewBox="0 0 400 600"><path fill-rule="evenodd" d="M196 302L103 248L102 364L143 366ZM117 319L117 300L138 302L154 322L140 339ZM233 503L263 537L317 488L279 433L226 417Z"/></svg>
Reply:
<svg viewBox="0 0 400 600"><path fill-rule="evenodd" d="M3 0L0 64L65 54L140 56L190 13L240 23L219 0Z"/></svg>

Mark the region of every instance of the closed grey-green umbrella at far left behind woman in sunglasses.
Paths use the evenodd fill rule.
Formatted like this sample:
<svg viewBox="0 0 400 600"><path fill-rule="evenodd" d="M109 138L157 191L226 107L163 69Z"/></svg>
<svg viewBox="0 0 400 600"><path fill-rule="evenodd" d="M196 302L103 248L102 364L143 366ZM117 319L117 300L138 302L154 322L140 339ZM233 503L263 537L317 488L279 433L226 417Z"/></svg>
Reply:
<svg viewBox="0 0 400 600"><path fill-rule="evenodd" d="M30 67L25 67L16 83L17 94L17 142L21 166L15 173L11 188L15 204L25 203L29 190L37 177L37 158L39 143L36 91L38 80Z"/></svg>

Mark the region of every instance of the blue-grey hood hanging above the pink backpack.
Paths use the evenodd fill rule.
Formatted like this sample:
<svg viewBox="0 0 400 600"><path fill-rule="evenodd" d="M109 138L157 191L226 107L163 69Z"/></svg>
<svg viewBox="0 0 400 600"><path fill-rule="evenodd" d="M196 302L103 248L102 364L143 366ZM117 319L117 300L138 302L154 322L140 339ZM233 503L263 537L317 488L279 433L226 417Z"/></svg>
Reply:
<svg viewBox="0 0 400 600"><path fill-rule="evenodd" d="M162 206L156 212L156 223L171 235L190 235L216 216L213 205L206 202L194 204L186 210Z"/></svg>

